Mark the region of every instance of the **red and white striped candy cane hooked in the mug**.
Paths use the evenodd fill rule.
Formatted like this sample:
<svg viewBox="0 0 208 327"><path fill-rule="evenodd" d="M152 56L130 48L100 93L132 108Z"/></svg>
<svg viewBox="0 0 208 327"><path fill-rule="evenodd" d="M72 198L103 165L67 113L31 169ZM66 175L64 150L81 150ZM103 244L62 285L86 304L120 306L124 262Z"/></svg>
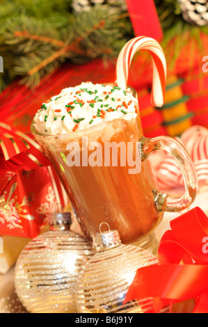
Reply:
<svg viewBox="0 0 208 327"><path fill-rule="evenodd" d="M115 70L115 84L126 90L131 61L137 51L146 49L152 55L153 83L152 104L161 107L166 92L166 57L159 43L145 36L133 38L122 48L118 56Z"/></svg>

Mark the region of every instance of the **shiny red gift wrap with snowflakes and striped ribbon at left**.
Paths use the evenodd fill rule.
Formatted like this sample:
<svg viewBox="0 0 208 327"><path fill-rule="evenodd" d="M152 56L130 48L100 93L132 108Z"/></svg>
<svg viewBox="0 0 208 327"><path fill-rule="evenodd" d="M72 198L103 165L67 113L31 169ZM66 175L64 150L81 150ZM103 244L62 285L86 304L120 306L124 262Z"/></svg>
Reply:
<svg viewBox="0 0 208 327"><path fill-rule="evenodd" d="M0 233L31 239L68 204L67 196L30 136L0 123L0 150Z"/></svg>

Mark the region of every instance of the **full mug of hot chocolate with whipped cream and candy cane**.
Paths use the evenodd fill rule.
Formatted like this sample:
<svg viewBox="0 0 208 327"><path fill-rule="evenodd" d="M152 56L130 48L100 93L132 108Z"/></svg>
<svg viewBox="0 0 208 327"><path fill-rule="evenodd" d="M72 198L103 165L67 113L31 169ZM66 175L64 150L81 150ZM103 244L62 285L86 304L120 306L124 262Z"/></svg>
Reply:
<svg viewBox="0 0 208 327"><path fill-rule="evenodd" d="M197 177L179 142L143 136L136 92L127 86L132 58L141 49L152 56L152 105L163 106L166 58L156 40L141 36L120 51L113 86L86 82L62 90L42 104L32 132L56 168L87 237L106 222L119 231L123 243L140 239L137 244L153 250L150 232L163 212L191 205ZM184 177L183 194L157 190L148 161L156 150L175 158Z"/></svg>

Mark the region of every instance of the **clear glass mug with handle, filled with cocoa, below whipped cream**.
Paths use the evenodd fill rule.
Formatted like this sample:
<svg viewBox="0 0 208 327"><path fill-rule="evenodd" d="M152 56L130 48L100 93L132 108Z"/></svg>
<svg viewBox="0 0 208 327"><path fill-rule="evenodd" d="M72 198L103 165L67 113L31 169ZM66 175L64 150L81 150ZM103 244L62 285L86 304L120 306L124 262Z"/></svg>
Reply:
<svg viewBox="0 0 208 327"><path fill-rule="evenodd" d="M131 90L137 99L136 91ZM135 105L138 107L138 102L135 101ZM197 177L189 154L173 138L145 138L139 110L134 120L115 119L69 134L46 136L38 133L33 123L31 131L56 169L88 239L92 239L92 235L99 232L99 225L106 222L111 230L119 231L123 244L134 243L150 249L156 246L153 230L163 213L186 209L195 199ZM113 152L110 165L103 155L105 145L113 142L127 145L126 149L129 143L135 145L125 154L117 148L117 165L112 164ZM137 162L137 145L141 149L140 172L132 173L132 164L122 164L122 161L129 162L127 155L131 152L132 162ZM99 149L96 152L99 160L96 158L97 165L89 164L92 156L95 158L95 149ZM148 159L155 150L166 150L177 161L184 177L183 194L171 196L158 190ZM74 158L77 156L78 164L74 162L74 166L69 164L68 156L72 156L72 152Z"/></svg>

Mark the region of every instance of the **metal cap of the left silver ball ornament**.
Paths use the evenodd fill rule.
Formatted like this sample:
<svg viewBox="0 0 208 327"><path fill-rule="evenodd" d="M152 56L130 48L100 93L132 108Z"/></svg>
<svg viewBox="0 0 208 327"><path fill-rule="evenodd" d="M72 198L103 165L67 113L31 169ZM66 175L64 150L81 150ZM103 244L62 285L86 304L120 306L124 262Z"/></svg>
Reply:
<svg viewBox="0 0 208 327"><path fill-rule="evenodd" d="M72 225L71 212L56 212L49 216L51 230L70 230Z"/></svg>

